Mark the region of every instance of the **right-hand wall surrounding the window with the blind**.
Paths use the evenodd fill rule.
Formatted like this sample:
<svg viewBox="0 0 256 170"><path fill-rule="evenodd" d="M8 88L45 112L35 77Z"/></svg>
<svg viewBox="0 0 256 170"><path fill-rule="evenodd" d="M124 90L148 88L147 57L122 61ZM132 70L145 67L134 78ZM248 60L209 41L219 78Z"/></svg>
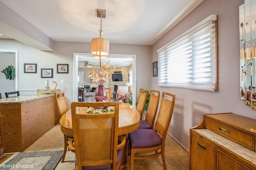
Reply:
<svg viewBox="0 0 256 170"><path fill-rule="evenodd" d="M203 114L231 112L256 119L256 111L240 99L239 11L244 0L204 0L188 16L152 46L152 61L157 50L210 14L218 15L218 80L215 93L188 89L158 87L151 77L152 89L176 94L174 113L168 132L187 149L189 128L200 123Z"/></svg>

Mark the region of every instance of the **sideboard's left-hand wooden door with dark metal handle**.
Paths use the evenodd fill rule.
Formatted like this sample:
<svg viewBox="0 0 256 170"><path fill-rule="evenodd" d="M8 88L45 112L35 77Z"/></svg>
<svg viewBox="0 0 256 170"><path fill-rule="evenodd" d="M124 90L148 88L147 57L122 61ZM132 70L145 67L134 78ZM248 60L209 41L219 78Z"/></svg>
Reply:
<svg viewBox="0 0 256 170"><path fill-rule="evenodd" d="M214 170L215 147L197 137L191 135L191 170Z"/></svg>

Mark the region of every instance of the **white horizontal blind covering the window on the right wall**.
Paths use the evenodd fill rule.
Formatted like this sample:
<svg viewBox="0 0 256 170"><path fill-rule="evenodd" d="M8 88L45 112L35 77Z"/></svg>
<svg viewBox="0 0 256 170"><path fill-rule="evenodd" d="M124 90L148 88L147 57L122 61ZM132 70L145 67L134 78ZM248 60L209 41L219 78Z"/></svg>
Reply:
<svg viewBox="0 0 256 170"><path fill-rule="evenodd" d="M217 16L158 49L158 86L218 90Z"/></svg>

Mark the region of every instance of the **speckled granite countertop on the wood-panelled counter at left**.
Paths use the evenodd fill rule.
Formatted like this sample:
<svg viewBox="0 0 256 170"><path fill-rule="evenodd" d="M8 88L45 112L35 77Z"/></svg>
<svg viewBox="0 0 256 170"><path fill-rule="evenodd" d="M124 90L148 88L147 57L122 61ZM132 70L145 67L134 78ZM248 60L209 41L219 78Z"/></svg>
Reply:
<svg viewBox="0 0 256 170"><path fill-rule="evenodd" d="M23 96L15 96L15 97L9 97L0 99L0 104L4 103L25 103L28 101L33 101L37 99L42 99L44 97L53 96L54 94L44 94L44 95L23 95Z"/></svg>

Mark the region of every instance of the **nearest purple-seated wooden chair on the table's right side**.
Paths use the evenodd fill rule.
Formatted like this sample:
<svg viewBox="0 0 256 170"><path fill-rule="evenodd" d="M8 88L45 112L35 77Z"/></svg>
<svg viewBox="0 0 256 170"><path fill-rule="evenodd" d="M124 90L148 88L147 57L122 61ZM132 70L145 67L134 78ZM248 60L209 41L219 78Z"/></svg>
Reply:
<svg viewBox="0 0 256 170"><path fill-rule="evenodd" d="M159 155L162 155L164 169L167 170L164 159L164 146L168 127L172 119L174 103L174 94L162 92L160 109L154 130L138 128L134 132L129 133L130 170L134 169L134 159L154 158ZM135 155L136 153L147 153L147 155Z"/></svg>

